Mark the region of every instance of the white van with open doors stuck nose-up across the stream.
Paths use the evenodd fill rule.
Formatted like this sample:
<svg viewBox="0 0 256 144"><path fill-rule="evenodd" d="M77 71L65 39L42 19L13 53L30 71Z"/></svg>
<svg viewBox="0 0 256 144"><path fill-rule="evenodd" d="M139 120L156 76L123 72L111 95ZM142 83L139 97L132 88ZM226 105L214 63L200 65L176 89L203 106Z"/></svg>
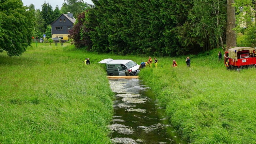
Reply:
<svg viewBox="0 0 256 144"><path fill-rule="evenodd" d="M126 59L114 60L112 58L107 58L103 59L99 63L106 64L107 74L109 76L125 76L125 70L127 69L133 70L133 74L136 74L139 69L139 65L136 64L136 62Z"/></svg>

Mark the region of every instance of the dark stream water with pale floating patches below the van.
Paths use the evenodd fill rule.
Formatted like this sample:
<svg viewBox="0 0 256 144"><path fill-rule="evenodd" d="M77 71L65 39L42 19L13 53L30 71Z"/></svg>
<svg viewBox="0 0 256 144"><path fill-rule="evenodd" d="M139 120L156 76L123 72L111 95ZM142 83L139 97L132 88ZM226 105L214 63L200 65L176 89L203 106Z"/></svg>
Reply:
<svg viewBox="0 0 256 144"><path fill-rule="evenodd" d="M151 90L139 79L110 79L116 93L109 126L114 144L185 144L168 124Z"/></svg>

